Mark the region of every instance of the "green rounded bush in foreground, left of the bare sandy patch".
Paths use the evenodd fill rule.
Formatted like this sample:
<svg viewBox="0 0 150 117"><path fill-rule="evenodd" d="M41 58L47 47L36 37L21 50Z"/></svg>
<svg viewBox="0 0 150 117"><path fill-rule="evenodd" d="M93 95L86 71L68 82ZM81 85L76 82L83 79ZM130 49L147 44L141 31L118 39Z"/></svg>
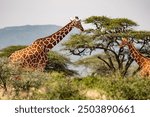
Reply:
<svg viewBox="0 0 150 117"><path fill-rule="evenodd" d="M51 78L44 84L45 92L36 92L33 99L83 99L73 80L66 78L63 73L53 72L50 77Z"/></svg>

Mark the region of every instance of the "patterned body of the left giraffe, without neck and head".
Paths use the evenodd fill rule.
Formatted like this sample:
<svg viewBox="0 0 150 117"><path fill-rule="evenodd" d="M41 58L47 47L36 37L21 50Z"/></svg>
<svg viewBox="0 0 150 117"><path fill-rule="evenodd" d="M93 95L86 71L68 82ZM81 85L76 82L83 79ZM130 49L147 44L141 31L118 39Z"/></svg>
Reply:
<svg viewBox="0 0 150 117"><path fill-rule="evenodd" d="M22 67L41 70L43 70L48 60L42 50L35 49L32 45L12 53L9 59L12 63L20 64Z"/></svg>

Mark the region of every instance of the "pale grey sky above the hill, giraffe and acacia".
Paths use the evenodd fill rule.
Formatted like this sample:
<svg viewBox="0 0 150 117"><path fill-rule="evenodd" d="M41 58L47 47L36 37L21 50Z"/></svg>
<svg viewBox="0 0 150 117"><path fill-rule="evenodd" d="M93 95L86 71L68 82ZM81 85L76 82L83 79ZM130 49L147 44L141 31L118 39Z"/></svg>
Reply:
<svg viewBox="0 0 150 117"><path fill-rule="evenodd" d="M150 30L150 0L0 0L0 28L21 25L64 26L70 17L128 18ZM86 24L84 24L86 27Z"/></svg>

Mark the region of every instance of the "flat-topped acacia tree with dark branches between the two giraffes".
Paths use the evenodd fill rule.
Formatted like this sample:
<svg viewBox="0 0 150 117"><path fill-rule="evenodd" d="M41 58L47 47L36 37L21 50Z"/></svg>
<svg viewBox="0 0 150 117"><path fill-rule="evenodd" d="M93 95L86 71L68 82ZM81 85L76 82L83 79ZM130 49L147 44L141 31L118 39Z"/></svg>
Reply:
<svg viewBox="0 0 150 117"><path fill-rule="evenodd" d="M104 62L113 73L119 71L122 76L133 63L127 48L120 48L122 37L127 37L134 43L137 49L146 56L150 55L150 32L137 31L136 22L127 18L108 18L105 16L91 16L84 20L86 24L92 24L91 28L83 33L72 35L65 45L65 49L73 55L91 55L95 51L97 58Z"/></svg>

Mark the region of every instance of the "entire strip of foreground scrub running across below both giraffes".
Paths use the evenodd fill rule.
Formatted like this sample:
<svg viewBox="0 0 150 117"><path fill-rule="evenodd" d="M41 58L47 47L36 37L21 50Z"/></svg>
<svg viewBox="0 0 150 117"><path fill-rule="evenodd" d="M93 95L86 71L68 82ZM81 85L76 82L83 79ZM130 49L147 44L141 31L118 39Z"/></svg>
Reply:
<svg viewBox="0 0 150 117"><path fill-rule="evenodd" d="M7 67L4 67L4 66ZM3 67L1 67L3 66ZM119 76L75 78L63 72L26 71L1 62L0 99L150 99L150 79Z"/></svg>

